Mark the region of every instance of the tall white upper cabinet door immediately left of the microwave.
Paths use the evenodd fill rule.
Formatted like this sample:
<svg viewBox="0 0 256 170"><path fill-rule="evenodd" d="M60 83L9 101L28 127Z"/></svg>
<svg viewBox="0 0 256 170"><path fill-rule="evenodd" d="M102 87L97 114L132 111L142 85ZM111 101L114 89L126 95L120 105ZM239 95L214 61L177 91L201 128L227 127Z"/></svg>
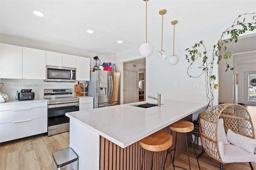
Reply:
<svg viewBox="0 0 256 170"><path fill-rule="evenodd" d="M46 51L22 47L22 78L46 79Z"/></svg>

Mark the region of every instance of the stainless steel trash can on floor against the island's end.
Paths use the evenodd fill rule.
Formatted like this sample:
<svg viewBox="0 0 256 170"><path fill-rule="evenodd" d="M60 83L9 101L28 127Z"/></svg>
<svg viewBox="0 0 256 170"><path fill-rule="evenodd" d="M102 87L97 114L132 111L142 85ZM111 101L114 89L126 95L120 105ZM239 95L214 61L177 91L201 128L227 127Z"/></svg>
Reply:
<svg viewBox="0 0 256 170"><path fill-rule="evenodd" d="M52 153L52 170L78 170L78 156L72 148Z"/></svg>

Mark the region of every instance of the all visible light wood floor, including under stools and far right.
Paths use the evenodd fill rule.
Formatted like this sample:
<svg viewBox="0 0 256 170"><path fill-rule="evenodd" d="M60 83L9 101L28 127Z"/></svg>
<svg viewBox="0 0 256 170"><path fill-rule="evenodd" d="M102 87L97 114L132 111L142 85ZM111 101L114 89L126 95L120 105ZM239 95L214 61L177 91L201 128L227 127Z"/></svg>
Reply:
<svg viewBox="0 0 256 170"><path fill-rule="evenodd" d="M252 117L254 129L256 129L256 107L246 106ZM69 132L56 134L53 136L43 136L42 134L30 136L22 139L2 142L0 144L0 170L51 170L52 152L69 147ZM201 146L197 146L197 154L202 151ZM190 147L190 161L192 170L198 170L194 150ZM188 157L186 151L175 160L175 165L188 167ZM219 162L213 160L204 153L199 158L201 170L219 170ZM252 162L256 169L256 163ZM179 168L176 168L179 169ZM224 170L250 170L248 163L224 164ZM172 170L172 167L167 168Z"/></svg>

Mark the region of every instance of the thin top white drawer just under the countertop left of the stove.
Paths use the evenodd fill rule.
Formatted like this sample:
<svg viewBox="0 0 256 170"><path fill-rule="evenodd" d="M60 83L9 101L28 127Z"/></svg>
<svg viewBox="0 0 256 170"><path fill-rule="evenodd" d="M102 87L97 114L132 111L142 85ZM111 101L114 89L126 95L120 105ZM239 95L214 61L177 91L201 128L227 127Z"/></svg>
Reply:
<svg viewBox="0 0 256 170"><path fill-rule="evenodd" d="M35 107L47 107L47 101L45 102L31 102L31 103L15 103L11 105L1 105L0 111L11 111L18 109L31 109Z"/></svg>

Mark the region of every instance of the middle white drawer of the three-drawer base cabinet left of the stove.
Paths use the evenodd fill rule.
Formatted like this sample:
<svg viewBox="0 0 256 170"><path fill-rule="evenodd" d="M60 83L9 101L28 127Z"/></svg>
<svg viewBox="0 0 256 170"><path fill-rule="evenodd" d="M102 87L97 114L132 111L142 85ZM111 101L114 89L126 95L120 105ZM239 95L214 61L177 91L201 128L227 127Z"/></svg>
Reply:
<svg viewBox="0 0 256 170"><path fill-rule="evenodd" d="M17 109L13 111L1 111L0 124L10 122L22 122L41 117L47 117L47 107Z"/></svg>

